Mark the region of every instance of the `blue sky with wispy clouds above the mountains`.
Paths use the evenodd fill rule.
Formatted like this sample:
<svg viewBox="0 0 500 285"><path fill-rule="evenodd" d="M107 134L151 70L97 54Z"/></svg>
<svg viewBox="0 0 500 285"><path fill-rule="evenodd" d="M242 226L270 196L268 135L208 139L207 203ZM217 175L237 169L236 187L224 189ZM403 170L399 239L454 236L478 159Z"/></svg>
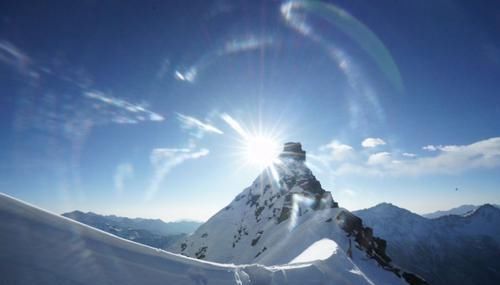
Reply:
<svg viewBox="0 0 500 285"><path fill-rule="evenodd" d="M500 203L498 9L4 1L0 189L58 213L205 220L261 170L236 122L300 141L351 210Z"/></svg>

